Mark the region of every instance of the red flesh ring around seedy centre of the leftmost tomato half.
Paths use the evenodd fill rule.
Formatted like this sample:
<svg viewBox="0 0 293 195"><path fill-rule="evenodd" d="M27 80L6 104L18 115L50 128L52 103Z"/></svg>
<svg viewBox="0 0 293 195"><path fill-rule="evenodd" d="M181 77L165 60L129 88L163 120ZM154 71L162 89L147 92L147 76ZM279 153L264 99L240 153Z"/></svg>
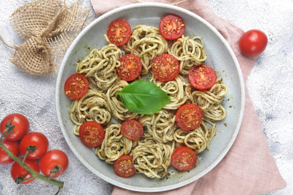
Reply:
<svg viewBox="0 0 293 195"><path fill-rule="evenodd" d="M82 86L82 88L79 88L80 92L78 94L71 94L71 93L69 93L69 91L71 91L70 84L72 82L75 82L75 79L77 79L77 78L82 79L82 81L84 82L83 86ZM71 99L79 99L79 98L81 98L82 96L84 96L88 92L88 80L87 80L87 78L84 75L79 74L79 73L71 75L70 77L67 78L67 80L64 83L64 92Z"/></svg>

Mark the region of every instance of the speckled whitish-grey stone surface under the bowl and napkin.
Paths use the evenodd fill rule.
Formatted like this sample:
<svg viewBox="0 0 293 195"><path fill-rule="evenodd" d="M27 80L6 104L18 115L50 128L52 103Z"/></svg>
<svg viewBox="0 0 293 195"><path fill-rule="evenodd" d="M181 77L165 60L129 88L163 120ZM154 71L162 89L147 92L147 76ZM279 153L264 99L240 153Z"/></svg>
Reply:
<svg viewBox="0 0 293 195"><path fill-rule="evenodd" d="M268 46L258 57L248 77L248 91L258 113L287 187L268 194L293 193L293 1L291 0L208 0L222 18L244 31L260 29L268 36ZM30 0L0 1L0 34L8 44L21 44L9 24L9 15ZM70 2L70 1L69 1ZM89 0L80 4L92 10ZM97 16L91 11L91 18ZM56 76L24 73L8 61L10 48L0 41L0 120L19 112L30 121L30 131L44 133L49 149L61 149L69 157L60 194L111 194L113 185L87 170L67 146L60 131L55 109ZM253 144L253 143L251 143ZM249 158L249 157L248 157ZM16 185L10 165L0 165L0 194L54 194L57 187L34 181Z"/></svg>

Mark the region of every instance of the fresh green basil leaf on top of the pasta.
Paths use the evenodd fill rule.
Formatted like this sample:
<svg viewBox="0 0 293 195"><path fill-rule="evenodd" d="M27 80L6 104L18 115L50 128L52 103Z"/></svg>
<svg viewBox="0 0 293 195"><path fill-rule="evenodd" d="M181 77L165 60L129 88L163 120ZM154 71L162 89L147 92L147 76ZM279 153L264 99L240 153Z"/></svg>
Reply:
<svg viewBox="0 0 293 195"><path fill-rule="evenodd" d="M116 94L123 105L138 114L151 114L159 111L171 98L162 89L149 81L134 81Z"/></svg>

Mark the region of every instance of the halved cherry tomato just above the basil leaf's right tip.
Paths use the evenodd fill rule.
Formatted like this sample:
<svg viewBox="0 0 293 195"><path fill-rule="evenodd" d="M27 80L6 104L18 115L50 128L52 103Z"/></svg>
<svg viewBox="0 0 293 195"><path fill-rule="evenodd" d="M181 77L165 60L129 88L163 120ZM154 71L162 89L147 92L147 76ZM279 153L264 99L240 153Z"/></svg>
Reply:
<svg viewBox="0 0 293 195"><path fill-rule="evenodd" d="M178 75L180 65L171 54L161 54L154 58L151 69L158 80L171 81Z"/></svg>

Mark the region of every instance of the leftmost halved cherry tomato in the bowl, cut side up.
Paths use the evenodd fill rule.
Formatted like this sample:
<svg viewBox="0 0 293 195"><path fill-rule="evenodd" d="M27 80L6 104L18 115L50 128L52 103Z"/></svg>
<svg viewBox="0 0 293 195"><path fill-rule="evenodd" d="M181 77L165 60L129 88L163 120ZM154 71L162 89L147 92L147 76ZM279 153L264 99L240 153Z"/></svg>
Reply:
<svg viewBox="0 0 293 195"><path fill-rule="evenodd" d="M65 81L64 92L72 99L79 99L88 92L88 80L82 74L71 75Z"/></svg>

